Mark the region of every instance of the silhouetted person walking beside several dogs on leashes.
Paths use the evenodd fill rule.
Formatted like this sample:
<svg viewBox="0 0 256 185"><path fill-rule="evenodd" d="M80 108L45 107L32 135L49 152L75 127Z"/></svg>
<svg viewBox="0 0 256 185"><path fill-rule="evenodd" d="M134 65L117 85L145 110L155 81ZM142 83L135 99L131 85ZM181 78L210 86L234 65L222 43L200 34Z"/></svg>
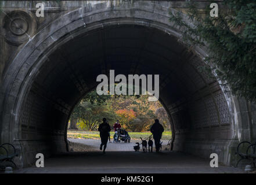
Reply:
<svg viewBox="0 0 256 185"><path fill-rule="evenodd" d="M164 132L164 127L159 123L159 120L154 120L154 124L150 128L150 132L153 134L154 144L156 145L156 152L158 152L160 147L160 140Z"/></svg>

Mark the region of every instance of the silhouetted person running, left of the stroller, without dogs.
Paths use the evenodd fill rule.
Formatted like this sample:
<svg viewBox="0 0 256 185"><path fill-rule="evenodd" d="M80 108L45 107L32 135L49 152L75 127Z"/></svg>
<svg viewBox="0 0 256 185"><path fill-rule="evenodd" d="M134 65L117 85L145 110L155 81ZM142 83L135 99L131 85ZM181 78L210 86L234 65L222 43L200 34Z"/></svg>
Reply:
<svg viewBox="0 0 256 185"><path fill-rule="evenodd" d="M102 150L102 146L104 145L103 148L103 153L105 153L106 147L107 147L107 140L109 139L109 132L111 128L110 125L107 124L107 119L103 118L103 123L99 125L98 131L100 132L100 139L102 143L100 144L100 150Z"/></svg>

